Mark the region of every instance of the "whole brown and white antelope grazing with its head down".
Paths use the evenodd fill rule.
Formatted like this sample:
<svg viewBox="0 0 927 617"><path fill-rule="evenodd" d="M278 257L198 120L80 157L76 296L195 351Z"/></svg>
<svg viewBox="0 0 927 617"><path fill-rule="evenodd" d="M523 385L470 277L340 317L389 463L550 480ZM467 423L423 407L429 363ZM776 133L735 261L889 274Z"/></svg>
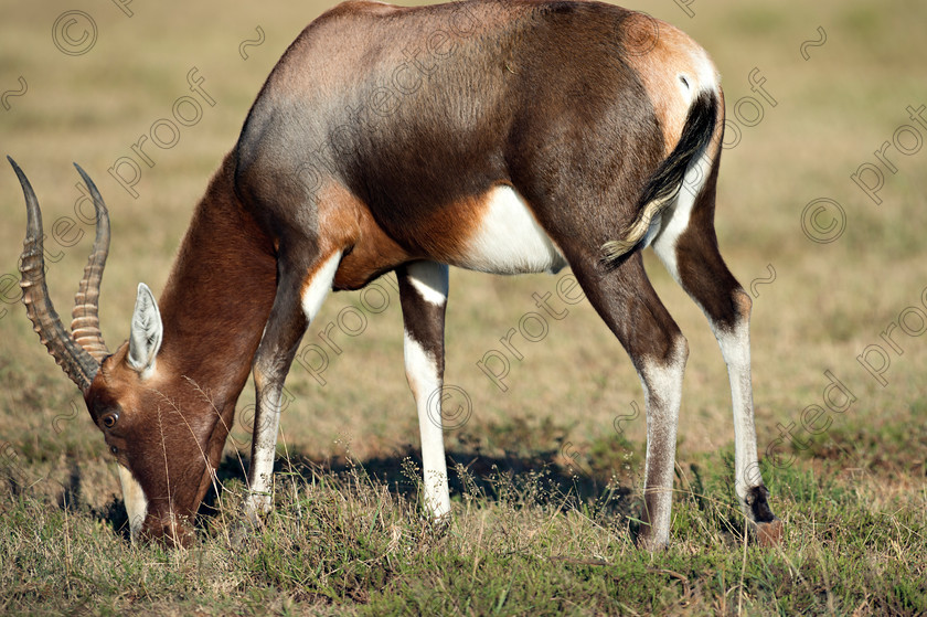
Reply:
<svg viewBox="0 0 927 617"><path fill-rule="evenodd" d="M398 277L425 503L448 514L441 387L448 265L564 266L630 354L647 401L640 543L667 544L685 338L641 262L652 246L702 308L731 377L736 493L760 540L781 523L757 468L750 298L713 227L724 99L707 54L642 13L573 0L347 2L277 63L196 206L160 301L143 284L110 353L97 300L97 209L72 332L49 299L39 203L23 301L119 462L134 536L187 544L249 371L257 406L249 518L271 507L284 379L329 289ZM11 161L12 162L12 161ZM681 190L683 188L685 190Z"/></svg>

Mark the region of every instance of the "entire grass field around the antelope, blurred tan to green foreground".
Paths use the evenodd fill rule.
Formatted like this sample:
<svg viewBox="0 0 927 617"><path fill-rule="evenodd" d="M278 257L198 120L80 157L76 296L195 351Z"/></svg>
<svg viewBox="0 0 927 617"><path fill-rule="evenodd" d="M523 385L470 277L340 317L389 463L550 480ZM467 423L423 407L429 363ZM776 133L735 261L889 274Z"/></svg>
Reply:
<svg viewBox="0 0 927 617"><path fill-rule="evenodd" d="M46 231L64 225L49 244L60 313L92 235L75 213L72 161L110 210L100 315L115 348L137 283L163 288L192 206L268 71L330 6L0 0L0 152L29 174ZM360 294L333 295L307 332L305 344L345 307L366 319L359 336L334 332L343 352L323 374L295 365L287 381L265 529L238 529L248 385L198 544L132 546L115 462L19 301L25 216L2 170L0 611L927 613L927 120L907 109L927 105L927 6L626 6L684 29L723 73L732 125L716 226L754 296L757 434L761 451L778 453L763 466L786 522L780 549L744 542L725 366L704 317L652 255L648 272L691 348L667 552L641 553L630 536L646 427L637 375L587 302L556 304L568 273L460 270L450 276L446 376L466 398L446 435L447 529L420 514L398 297L384 283L382 311ZM107 170L171 117L194 67L215 105L204 103L173 147L149 150L153 167L141 166L134 196ZM767 96L752 91L752 73ZM884 185L867 193L853 174ZM542 341L520 341L524 359L509 359L502 391L477 361L503 351L499 338L547 292L568 315L550 320ZM852 403L811 435L810 406L842 407L835 382ZM789 426L793 438L777 443Z"/></svg>

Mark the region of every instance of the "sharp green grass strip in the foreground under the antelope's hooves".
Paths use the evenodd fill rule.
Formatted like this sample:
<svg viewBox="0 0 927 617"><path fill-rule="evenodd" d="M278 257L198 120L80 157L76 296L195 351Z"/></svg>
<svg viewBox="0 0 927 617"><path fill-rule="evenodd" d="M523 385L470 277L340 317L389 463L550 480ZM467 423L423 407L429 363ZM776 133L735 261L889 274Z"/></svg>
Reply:
<svg viewBox="0 0 927 617"><path fill-rule="evenodd" d="M888 494L860 478L796 465L767 471L787 522L781 550L744 543L729 453L678 469L673 545L635 549L635 497L534 472L455 471L454 520L423 519L417 468L379 478L284 465L262 529L239 523L226 478L188 551L132 546L118 504L97 511L22 491L2 502L0 608L30 613L873 614L927 610L924 491ZM223 471L234 475L230 459ZM396 487L399 490L395 490ZM580 496L582 494L582 496ZM122 531L122 533L120 533Z"/></svg>

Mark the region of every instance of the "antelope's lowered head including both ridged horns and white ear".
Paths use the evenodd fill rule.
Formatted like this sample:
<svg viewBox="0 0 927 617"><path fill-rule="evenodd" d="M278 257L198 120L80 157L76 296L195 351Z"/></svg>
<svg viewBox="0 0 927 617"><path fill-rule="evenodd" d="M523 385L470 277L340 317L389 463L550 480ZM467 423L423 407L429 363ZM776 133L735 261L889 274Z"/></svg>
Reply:
<svg viewBox="0 0 927 617"><path fill-rule="evenodd" d="M119 464L132 539L185 545L213 479L231 414L159 353L164 328L151 290L140 284L128 341L110 352L99 329L100 280L109 252L109 216L93 180L75 163L96 209L96 237L72 311L71 332L45 284L42 214L22 170L9 159L28 212L21 257L22 300L49 353L84 395L90 418ZM232 405L234 411L234 403Z"/></svg>

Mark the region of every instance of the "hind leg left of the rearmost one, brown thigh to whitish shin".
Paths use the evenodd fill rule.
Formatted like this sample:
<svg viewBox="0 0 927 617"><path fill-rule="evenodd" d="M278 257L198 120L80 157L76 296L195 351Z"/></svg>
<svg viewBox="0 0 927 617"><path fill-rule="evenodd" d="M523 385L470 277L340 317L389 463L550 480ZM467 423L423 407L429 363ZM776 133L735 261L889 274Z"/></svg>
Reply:
<svg viewBox="0 0 927 617"><path fill-rule="evenodd" d="M631 357L647 403L647 461L641 547L668 544L676 426L689 344L643 270L640 253L614 272L593 257L572 259L586 297Z"/></svg>

